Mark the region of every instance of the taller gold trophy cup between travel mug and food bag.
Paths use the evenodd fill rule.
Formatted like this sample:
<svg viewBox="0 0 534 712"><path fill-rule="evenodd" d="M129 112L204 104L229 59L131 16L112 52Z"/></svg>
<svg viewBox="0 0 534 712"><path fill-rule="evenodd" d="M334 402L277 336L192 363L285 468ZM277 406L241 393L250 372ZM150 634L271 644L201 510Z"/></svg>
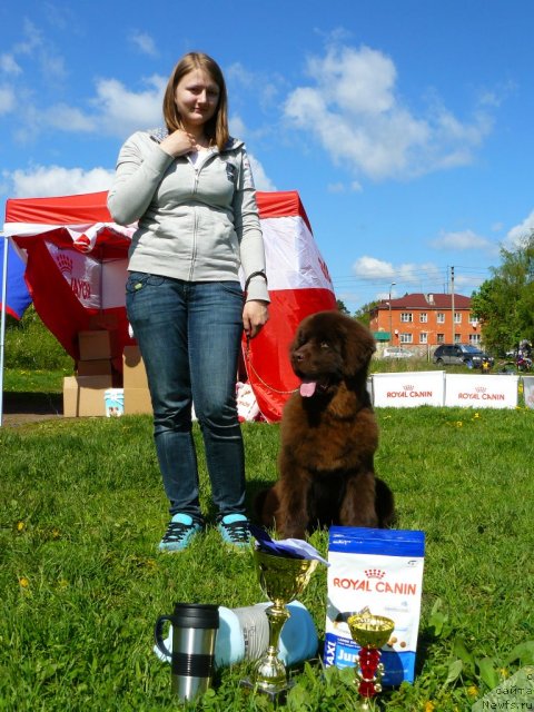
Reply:
<svg viewBox="0 0 534 712"><path fill-rule="evenodd" d="M278 643L284 623L289 617L287 603L294 601L308 585L317 561L276 556L263 551L254 552L256 572L261 591L269 601L266 610L269 622L269 646L255 665L251 681L243 684L267 694L271 701L289 689L286 666L278 657Z"/></svg>

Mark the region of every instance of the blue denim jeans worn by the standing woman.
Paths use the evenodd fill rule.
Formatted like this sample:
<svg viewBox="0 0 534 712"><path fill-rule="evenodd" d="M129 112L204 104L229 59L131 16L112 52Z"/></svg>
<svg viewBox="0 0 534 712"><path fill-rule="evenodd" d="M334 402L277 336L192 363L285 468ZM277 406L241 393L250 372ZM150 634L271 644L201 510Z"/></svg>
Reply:
<svg viewBox="0 0 534 712"><path fill-rule="evenodd" d="M127 314L147 369L156 452L171 515L184 512L202 520L192 403L219 515L245 514L245 455L236 406L243 304L238 281L187 283L129 274Z"/></svg>

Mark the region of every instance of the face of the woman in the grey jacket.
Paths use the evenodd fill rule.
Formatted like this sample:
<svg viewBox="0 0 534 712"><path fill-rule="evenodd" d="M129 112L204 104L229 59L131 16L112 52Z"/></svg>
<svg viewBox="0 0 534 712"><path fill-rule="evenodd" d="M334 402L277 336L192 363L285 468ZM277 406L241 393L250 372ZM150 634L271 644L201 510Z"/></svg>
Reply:
<svg viewBox="0 0 534 712"><path fill-rule="evenodd" d="M184 128L198 129L216 112L219 87L207 71L194 69L177 83L175 102Z"/></svg>

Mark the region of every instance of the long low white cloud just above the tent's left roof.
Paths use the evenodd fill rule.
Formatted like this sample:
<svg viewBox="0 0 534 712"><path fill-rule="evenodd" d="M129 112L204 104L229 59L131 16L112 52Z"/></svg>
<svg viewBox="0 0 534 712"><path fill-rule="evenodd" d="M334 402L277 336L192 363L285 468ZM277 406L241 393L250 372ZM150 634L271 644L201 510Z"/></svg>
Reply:
<svg viewBox="0 0 534 712"><path fill-rule="evenodd" d="M78 195L107 190L113 177L105 168L63 168L61 166L33 166L28 170L3 171L2 178L10 184L7 190L13 198L34 196Z"/></svg>

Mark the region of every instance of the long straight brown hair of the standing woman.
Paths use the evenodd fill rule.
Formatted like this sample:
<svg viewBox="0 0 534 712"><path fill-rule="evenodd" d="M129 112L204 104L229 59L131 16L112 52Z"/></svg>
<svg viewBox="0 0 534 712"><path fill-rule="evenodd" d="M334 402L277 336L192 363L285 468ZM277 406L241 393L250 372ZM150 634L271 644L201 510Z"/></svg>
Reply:
<svg viewBox="0 0 534 712"><path fill-rule="evenodd" d="M214 116L206 122L204 130L206 137L212 140L217 148L224 149L229 139L228 131L228 96L226 92L225 77L215 59L204 52L188 52L174 68L164 95L164 119L167 129L172 132L182 128L181 117L175 101L176 87L179 81L195 69L206 71L219 88L219 101Z"/></svg>

